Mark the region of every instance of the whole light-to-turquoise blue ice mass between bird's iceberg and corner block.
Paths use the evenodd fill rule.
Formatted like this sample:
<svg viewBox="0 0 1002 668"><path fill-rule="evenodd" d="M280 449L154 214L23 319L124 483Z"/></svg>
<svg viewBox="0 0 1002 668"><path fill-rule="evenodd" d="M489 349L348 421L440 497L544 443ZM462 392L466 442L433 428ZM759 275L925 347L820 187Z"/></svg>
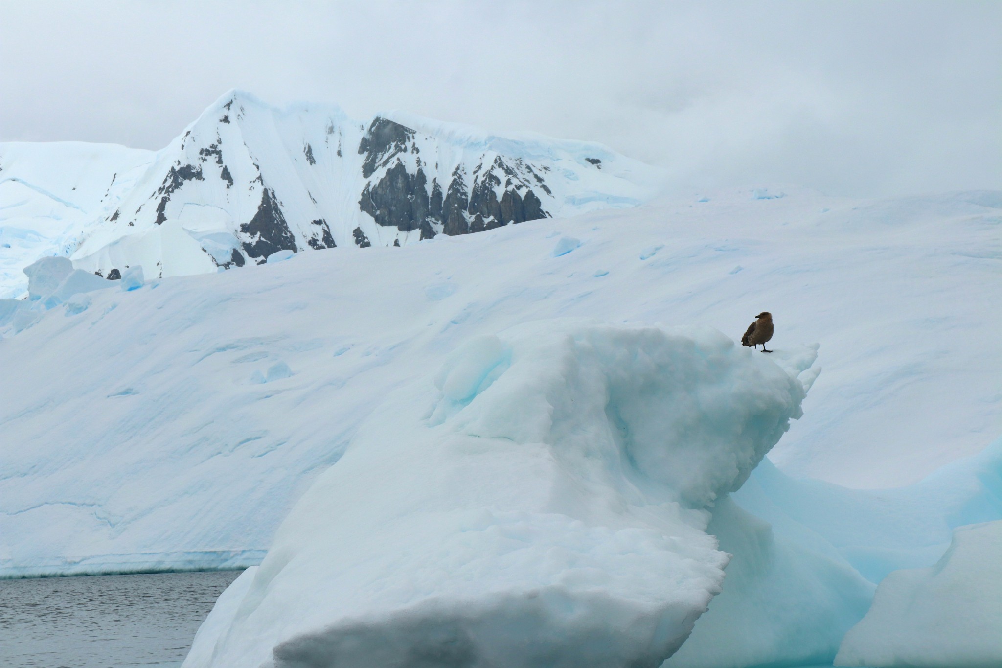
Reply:
<svg viewBox="0 0 1002 668"><path fill-rule="evenodd" d="M804 381L816 369L799 378ZM828 664L847 631L867 614L877 583L883 588L886 577L913 572L896 569L935 564L952 550L957 527L1000 517L1002 439L914 485L891 490L798 480L766 459L740 490L715 504L707 531L732 555L727 576L721 594L664 668ZM910 623L905 616L898 620ZM1002 637L1002 623L993 628L994 636ZM929 654L946 657L942 664L939 659L883 663L876 657L887 654L864 656L852 665L960 665L945 649ZM919 654L909 656L917 661Z"/></svg>

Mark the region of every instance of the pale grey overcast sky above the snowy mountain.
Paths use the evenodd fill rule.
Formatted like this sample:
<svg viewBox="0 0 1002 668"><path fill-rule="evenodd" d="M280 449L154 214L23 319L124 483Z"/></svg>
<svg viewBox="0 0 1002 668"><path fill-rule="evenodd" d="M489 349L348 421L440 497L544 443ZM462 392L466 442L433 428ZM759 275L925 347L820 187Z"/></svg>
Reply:
<svg viewBox="0 0 1002 668"><path fill-rule="evenodd" d="M1002 2L0 1L0 140L160 148L229 88L603 142L679 190L1002 187Z"/></svg>

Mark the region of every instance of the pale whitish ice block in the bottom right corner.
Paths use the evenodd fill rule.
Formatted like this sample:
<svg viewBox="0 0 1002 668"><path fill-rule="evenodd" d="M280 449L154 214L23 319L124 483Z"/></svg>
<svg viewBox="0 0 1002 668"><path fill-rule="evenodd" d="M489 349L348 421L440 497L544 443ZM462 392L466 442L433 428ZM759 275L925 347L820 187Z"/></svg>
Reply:
<svg viewBox="0 0 1002 668"><path fill-rule="evenodd" d="M934 566L895 571L837 666L1002 665L1002 521L961 527Z"/></svg>

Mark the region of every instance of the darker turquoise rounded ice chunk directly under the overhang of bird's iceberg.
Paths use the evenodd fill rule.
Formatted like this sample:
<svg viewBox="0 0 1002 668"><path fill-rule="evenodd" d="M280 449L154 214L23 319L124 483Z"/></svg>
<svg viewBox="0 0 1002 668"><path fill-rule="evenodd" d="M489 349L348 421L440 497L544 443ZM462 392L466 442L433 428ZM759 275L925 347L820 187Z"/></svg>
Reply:
<svg viewBox="0 0 1002 668"><path fill-rule="evenodd" d="M874 585L838 555L775 531L732 497L706 529L731 555L720 594L663 668L831 663L863 615Z"/></svg>

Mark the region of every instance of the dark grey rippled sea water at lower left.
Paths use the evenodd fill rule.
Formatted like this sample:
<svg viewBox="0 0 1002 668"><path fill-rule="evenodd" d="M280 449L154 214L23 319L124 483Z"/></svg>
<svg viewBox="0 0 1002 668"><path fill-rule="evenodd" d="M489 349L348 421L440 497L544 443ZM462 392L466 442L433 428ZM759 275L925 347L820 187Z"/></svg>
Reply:
<svg viewBox="0 0 1002 668"><path fill-rule="evenodd" d="M0 666L176 668L237 575L0 580Z"/></svg>

